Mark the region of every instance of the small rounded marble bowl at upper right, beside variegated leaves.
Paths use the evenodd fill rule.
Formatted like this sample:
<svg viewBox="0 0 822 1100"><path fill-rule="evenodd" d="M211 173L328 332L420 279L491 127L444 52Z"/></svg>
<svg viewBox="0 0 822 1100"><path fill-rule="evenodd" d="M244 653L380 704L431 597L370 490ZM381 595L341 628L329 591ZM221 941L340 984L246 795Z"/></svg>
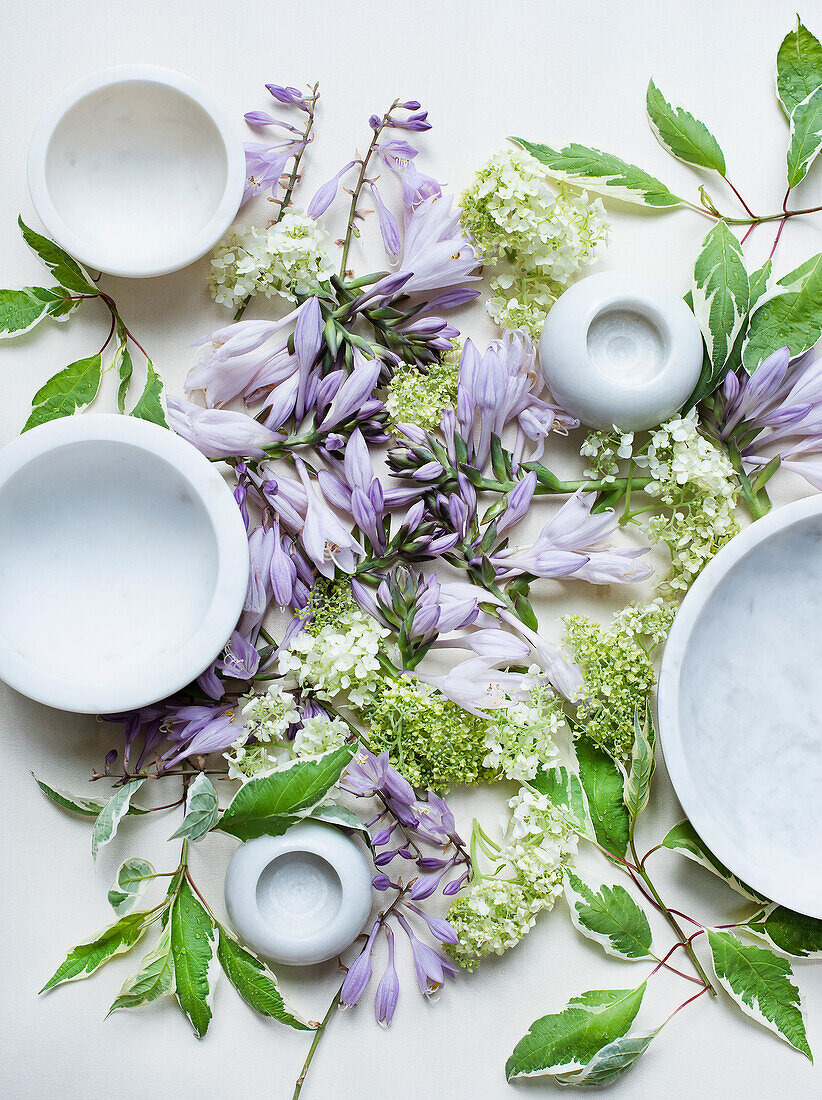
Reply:
<svg viewBox="0 0 822 1100"><path fill-rule="evenodd" d="M702 334L684 301L632 272L589 275L548 314L539 342L557 402L589 428L656 428L693 393Z"/></svg>

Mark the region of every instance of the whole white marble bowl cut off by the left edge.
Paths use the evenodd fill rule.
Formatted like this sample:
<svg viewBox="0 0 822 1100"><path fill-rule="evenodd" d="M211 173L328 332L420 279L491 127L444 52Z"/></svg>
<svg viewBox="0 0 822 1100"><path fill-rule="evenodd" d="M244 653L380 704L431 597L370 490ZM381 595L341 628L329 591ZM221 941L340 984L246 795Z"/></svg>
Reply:
<svg viewBox="0 0 822 1100"><path fill-rule="evenodd" d="M216 468L146 420L85 414L0 451L0 679L48 706L129 711L220 652L249 550Z"/></svg>

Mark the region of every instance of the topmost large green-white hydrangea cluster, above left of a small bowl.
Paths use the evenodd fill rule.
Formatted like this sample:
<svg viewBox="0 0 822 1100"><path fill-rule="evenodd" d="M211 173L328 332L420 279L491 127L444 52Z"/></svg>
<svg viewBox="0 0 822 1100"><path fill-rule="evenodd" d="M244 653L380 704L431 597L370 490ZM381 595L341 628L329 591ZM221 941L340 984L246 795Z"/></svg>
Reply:
<svg viewBox="0 0 822 1100"><path fill-rule="evenodd" d="M538 336L557 297L607 238L602 200L555 184L536 157L511 146L479 169L460 206L463 226L496 268L491 317Z"/></svg>

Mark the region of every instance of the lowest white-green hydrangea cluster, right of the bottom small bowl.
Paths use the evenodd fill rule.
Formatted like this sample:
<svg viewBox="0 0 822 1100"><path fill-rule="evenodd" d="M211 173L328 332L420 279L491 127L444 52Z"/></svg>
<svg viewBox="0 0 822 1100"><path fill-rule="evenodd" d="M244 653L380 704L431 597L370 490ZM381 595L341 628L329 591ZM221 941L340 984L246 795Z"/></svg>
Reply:
<svg viewBox="0 0 822 1100"><path fill-rule="evenodd" d="M484 956L514 947L539 913L554 908L562 893L562 868L577 854L576 833L546 795L523 787L508 806L497 867L478 875L448 912L459 937L449 953L469 970Z"/></svg>

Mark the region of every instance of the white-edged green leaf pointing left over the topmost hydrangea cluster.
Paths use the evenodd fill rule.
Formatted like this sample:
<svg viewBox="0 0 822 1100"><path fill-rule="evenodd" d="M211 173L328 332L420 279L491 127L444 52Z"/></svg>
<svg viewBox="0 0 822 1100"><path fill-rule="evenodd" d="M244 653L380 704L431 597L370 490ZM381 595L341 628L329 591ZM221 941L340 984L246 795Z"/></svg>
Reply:
<svg viewBox="0 0 822 1100"><path fill-rule="evenodd" d="M518 145L544 164L550 175L563 183L606 195L623 202L634 202L657 210L683 205L659 179L599 148L571 144L556 150L523 138L512 138Z"/></svg>

